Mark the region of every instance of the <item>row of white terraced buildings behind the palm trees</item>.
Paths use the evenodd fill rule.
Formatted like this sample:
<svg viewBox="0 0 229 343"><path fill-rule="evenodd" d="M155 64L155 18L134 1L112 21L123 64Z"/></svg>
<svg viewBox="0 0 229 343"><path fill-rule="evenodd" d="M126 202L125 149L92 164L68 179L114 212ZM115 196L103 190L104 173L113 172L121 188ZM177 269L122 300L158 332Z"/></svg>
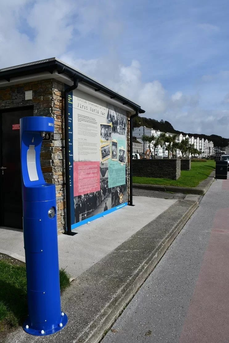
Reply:
<svg viewBox="0 0 229 343"><path fill-rule="evenodd" d="M143 127L143 126L140 126L138 128L134 128L133 129L133 133L132 135L136 137L136 139L143 143L141 137L143 134L146 134L148 136L151 136L152 134L156 137L158 137L160 134L161 134L161 131L159 130L154 130L154 129L149 129L147 127ZM171 132L166 132L166 134L169 136L169 135L172 135L173 133ZM186 135L183 135L182 133L178 134L177 135L177 139L176 141L177 142L181 142L183 139L185 138L188 138L189 139L189 142L194 144L195 148L197 150L199 150L200 152L202 152L199 157L210 157L210 155L213 155L214 154L214 144L212 141L208 141L207 139L204 139L203 137L201 136L198 136L198 135L193 135L193 136L188 136L187 134ZM153 142L150 144L150 149L153 151L154 149L154 145L153 145ZM145 153L147 155L149 155L149 143L145 143ZM158 145L156 147L156 150L155 150L155 153L156 153L156 157L167 157L168 156L168 151L165 150L165 145L163 144L163 146L161 147L160 145ZM182 157L182 154L180 152L179 149L177 149L177 157Z"/></svg>

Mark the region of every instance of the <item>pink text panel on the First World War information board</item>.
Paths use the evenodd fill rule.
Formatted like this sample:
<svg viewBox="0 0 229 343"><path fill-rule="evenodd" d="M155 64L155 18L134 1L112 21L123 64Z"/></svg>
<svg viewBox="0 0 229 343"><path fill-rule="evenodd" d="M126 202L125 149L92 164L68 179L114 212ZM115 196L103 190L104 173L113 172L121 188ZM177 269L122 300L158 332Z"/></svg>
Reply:
<svg viewBox="0 0 229 343"><path fill-rule="evenodd" d="M74 197L100 190L100 162L73 162Z"/></svg>

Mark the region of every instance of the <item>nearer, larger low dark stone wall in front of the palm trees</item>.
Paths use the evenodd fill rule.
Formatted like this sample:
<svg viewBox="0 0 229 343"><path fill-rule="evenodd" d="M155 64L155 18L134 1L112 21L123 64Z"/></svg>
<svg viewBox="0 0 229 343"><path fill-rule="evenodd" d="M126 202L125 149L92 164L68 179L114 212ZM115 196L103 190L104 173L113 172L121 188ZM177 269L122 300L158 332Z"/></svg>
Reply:
<svg viewBox="0 0 229 343"><path fill-rule="evenodd" d="M181 176L180 159L133 159L133 176L177 180Z"/></svg>

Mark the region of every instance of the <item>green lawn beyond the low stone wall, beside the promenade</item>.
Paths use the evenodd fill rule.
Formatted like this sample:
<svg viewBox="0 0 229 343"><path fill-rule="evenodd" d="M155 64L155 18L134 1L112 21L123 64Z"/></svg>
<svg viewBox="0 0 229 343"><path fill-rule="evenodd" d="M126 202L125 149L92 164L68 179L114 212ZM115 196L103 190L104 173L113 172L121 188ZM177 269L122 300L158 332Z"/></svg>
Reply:
<svg viewBox="0 0 229 343"><path fill-rule="evenodd" d="M215 167L216 163L211 159L209 159L207 162L192 162L191 170L181 170L181 176L178 180L133 176L133 183L147 185L196 187L199 182L205 180L210 175L211 171L215 169Z"/></svg>

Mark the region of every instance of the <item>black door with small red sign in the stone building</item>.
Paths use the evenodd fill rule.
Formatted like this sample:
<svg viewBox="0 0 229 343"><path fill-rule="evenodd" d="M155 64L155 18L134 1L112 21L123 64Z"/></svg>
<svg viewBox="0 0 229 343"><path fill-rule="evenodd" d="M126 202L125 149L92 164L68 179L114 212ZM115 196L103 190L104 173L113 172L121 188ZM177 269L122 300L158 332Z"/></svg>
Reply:
<svg viewBox="0 0 229 343"><path fill-rule="evenodd" d="M0 112L1 226L22 229L20 118L33 116L33 108Z"/></svg>

